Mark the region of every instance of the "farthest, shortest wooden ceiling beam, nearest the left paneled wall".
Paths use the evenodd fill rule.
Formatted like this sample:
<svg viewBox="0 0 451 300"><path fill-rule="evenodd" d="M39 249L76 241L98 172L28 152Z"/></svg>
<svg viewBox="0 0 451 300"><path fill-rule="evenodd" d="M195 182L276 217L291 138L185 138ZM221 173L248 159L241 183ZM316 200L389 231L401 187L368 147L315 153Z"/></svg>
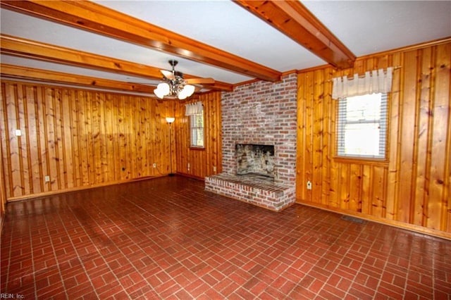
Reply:
<svg viewBox="0 0 451 300"><path fill-rule="evenodd" d="M128 92L141 92L153 94L155 86L137 85L116 80L106 80L69 73L54 72L36 68L25 68L17 65L0 65L0 74L3 77L19 78L25 80L38 80L43 82L58 82L66 85L89 86L101 89L115 89Z"/></svg>

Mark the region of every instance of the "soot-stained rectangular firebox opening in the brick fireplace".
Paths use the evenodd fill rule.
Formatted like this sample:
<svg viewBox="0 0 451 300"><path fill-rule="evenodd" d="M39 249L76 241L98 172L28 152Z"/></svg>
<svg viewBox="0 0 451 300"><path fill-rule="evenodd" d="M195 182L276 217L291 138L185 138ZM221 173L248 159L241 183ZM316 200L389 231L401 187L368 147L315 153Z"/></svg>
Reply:
<svg viewBox="0 0 451 300"><path fill-rule="evenodd" d="M263 175L274 178L274 146L236 144L237 175Z"/></svg>

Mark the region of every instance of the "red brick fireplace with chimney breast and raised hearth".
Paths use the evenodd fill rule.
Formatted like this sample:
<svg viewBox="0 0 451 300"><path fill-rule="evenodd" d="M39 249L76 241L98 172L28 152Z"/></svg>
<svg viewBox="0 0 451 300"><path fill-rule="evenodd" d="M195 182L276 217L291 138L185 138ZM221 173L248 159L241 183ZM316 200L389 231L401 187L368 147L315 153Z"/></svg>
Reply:
<svg viewBox="0 0 451 300"><path fill-rule="evenodd" d="M223 173L205 178L207 191L273 211L295 203L296 99L296 74L223 93ZM245 146L262 146L261 156L242 158L237 150ZM239 168L248 159L263 161L261 170L243 174Z"/></svg>

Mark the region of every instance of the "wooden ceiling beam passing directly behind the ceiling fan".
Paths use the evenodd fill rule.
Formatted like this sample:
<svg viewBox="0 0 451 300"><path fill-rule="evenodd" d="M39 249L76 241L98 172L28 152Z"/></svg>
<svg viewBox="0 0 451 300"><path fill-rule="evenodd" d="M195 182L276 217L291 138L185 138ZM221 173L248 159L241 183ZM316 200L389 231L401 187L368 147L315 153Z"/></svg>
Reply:
<svg viewBox="0 0 451 300"><path fill-rule="evenodd" d="M42 42L13 37L0 34L0 51L2 54L32 58L51 63L62 63L76 67L90 68L121 75L132 75L151 80L161 80L162 75L159 68L130 61L122 61L117 58L100 56L84 51L64 48ZM185 74L185 78L196 78L197 76ZM209 89L227 91L233 90L233 85L226 82L215 82L209 85Z"/></svg>

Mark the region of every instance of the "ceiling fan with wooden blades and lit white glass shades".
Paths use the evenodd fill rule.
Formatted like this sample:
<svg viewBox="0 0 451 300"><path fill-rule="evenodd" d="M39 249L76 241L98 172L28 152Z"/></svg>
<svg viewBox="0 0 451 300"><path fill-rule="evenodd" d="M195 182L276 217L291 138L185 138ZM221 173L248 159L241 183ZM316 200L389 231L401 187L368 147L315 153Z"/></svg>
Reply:
<svg viewBox="0 0 451 300"><path fill-rule="evenodd" d="M213 78L183 78L183 73L175 70L175 65L178 61L171 59L169 64L172 66L172 70L160 70L163 74L163 82L161 82L154 94L163 99L165 96L176 96L178 99L183 100L194 94L196 85L202 84L214 84Z"/></svg>

